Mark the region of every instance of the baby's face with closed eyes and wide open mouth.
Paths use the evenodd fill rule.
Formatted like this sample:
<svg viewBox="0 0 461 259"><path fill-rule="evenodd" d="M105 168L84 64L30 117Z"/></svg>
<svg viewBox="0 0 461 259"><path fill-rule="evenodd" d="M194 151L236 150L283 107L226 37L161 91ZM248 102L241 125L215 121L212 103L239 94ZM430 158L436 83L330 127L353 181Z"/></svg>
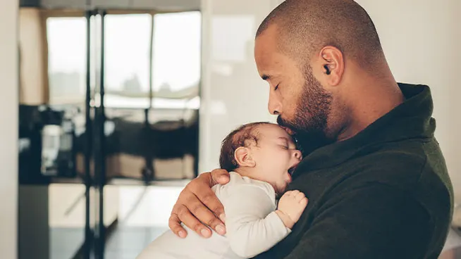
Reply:
<svg viewBox="0 0 461 259"><path fill-rule="evenodd" d="M291 182L295 166L302 159L290 135L278 125L260 125L259 141L252 146L258 179L269 182L277 194L282 194Z"/></svg>

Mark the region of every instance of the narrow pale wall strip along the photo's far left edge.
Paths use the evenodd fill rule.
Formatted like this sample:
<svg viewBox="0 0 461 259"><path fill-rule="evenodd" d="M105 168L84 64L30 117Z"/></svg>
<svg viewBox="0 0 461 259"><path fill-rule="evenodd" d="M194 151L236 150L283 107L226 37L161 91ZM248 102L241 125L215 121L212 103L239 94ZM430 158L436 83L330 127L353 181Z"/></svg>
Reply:
<svg viewBox="0 0 461 259"><path fill-rule="evenodd" d="M0 251L17 258L18 216L18 0L0 8Z"/></svg>

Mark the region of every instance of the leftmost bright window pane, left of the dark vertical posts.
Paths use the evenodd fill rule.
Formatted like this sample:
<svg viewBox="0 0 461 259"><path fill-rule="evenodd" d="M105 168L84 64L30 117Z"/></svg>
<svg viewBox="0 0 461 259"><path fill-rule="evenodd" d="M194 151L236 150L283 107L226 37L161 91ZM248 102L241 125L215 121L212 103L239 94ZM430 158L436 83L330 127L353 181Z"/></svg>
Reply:
<svg viewBox="0 0 461 259"><path fill-rule="evenodd" d="M50 104L85 100L86 20L48 18L48 77Z"/></svg>

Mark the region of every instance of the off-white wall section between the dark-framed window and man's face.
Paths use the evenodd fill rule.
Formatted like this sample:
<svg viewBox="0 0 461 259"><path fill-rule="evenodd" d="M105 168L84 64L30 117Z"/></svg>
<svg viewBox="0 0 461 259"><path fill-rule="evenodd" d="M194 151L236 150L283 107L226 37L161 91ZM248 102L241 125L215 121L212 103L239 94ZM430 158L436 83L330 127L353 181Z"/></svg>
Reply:
<svg viewBox="0 0 461 259"><path fill-rule="evenodd" d="M254 63L254 33L274 0L202 0L199 171L219 165L221 140L245 122L273 120L269 87Z"/></svg>

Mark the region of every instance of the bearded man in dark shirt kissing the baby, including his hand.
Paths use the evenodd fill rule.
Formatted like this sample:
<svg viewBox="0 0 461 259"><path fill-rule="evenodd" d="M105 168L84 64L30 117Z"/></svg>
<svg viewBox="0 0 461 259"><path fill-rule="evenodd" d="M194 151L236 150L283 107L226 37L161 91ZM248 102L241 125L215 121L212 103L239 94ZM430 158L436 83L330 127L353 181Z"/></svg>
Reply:
<svg viewBox="0 0 461 259"><path fill-rule="evenodd" d="M429 87L395 82L369 15L352 0L287 0L260 25L254 56L269 82L269 112L305 158L289 189L309 204L293 232L257 258L437 258L453 187L434 138ZM210 190L192 180L173 208L203 236L225 233ZM219 220L218 215L221 220Z"/></svg>

